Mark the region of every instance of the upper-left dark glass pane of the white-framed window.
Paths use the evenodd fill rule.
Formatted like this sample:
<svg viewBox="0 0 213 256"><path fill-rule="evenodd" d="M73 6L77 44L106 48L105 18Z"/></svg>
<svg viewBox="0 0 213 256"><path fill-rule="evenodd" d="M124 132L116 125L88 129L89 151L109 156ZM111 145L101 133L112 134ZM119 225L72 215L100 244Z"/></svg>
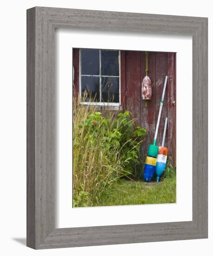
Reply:
<svg viewBox="0 0 213 256"><path fill-rule="evenodd" d="M99 50L82 49L81 50L81 74L100 74L100 56Z"/></svg>

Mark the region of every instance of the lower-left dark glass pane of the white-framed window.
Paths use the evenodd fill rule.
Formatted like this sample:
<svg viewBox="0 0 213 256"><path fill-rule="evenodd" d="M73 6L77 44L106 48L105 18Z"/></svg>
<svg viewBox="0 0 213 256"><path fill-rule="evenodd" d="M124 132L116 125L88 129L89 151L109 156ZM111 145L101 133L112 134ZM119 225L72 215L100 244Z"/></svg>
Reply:
<svg viewBox="0 0 213 256"><path fill-rule="evenodd" d="M82 76L81 77L81 96L82 101L100 101L100 77Z"/></svg>

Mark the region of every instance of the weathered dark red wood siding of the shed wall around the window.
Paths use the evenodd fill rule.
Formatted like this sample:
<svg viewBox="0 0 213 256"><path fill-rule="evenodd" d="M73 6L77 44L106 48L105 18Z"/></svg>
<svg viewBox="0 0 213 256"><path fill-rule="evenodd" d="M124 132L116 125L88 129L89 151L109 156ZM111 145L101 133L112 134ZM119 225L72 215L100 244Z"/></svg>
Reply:
<svg viewBox="0 0 213 256"><path fill-rule="evenodd" d="M74 97L79 94L79 49L73 50L74 58ZM142 154L147 154L148 145L153 143L155 128L160 108L160 99L164 86L165 76L168 75L168 83L164 97L157 145L161 145L163 129L166 116L168 126L165 140L165 147L168 148L168 156L172 158L173 165L176 165L176 54L149 52L148 55L148 76L152 82L152 100L141 99L141 84L145 76L146 57L145 52L121 51L121 106L133 113L136 118L136 125L146 128L148 134L143 142Z"/></svg>

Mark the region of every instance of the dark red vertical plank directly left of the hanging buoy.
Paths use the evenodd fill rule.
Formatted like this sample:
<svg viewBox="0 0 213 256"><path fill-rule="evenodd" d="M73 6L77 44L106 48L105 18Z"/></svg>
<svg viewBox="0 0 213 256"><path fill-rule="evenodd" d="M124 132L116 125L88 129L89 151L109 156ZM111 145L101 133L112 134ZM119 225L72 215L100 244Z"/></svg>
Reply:
<svg viewBox="0 0 213 256"><path fill-rule="evenodd" d="M126 109L133 113L135 125L141 125L140 115L140 52L126 52Z"/></svg>

